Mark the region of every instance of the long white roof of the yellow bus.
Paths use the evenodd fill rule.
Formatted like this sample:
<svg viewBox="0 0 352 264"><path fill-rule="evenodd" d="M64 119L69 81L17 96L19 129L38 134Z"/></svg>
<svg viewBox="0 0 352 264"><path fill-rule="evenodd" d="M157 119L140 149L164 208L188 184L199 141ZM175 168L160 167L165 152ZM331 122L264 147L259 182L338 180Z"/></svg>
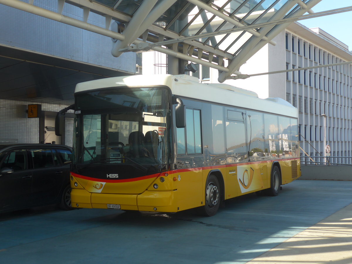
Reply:
<svg viewBox="0 0 352 264"><path fill-rule="evenodd" d="M103 78L76 85L75 93L106 87L167 86L172 94L229 106L297 117L297 108L281 98L260 99L252 91L222 83L199 83L189 75L133 75ZM283 87L284 88L284 87Z"/></svg>

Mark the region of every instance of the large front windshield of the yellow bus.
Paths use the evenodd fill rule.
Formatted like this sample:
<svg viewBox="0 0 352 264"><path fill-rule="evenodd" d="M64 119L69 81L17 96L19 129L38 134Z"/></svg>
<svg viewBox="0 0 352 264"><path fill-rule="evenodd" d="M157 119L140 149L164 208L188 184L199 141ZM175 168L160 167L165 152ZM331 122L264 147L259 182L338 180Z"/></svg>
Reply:
<svg viewBox="0 0 352 264"><path fill-rule="evenodd" d="M104 88L76 94L75 163L170 163L166 88ZM143 166L142 166L143 164Z"/></svg>

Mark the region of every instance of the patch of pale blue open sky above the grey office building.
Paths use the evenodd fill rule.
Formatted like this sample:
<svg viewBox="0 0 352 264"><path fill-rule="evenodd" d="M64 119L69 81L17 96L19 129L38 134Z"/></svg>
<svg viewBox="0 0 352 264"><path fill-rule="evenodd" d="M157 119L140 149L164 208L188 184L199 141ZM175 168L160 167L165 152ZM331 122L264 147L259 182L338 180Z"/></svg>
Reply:
<svg viewBox="0 0 352 264"><path fill-rule="evenodd" d="M312 8L312 10L317 13L348 6L352 6L351 0L321 0L319 4ZM334 38L337 38L342 43L346 44L348 50L352 50L352 11L300 20L298 22L308 28L319 27Z"/></svg>

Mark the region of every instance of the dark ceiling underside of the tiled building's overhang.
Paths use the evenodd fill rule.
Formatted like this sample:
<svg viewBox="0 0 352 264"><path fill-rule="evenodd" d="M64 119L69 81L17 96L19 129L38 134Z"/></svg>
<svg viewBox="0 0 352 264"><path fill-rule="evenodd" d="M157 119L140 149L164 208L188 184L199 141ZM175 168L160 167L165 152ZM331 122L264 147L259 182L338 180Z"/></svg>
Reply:
<svg viewBox="0 0 352 264"><path fill-rule="evenodd" d="M70 105L76 83L121 75L126 73L0 46L1 99Z"/></svg>

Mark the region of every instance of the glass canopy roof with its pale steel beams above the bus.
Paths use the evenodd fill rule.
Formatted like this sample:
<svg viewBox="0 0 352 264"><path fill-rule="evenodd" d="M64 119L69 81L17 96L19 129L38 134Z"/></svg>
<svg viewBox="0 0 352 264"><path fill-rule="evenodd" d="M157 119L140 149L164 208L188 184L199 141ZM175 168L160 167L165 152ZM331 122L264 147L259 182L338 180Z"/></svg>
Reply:
<svg viewBox="0 0 352 264"><path fill-rule="evenodd" d="M34 7L36 0L26 1L6 5L58 19L53 11ZM311 8L320 1L57 0L57 13L62 23L111 37L115 57L155 50L218 69L218 81L224 82L240 76L242 64L267 43L276 45L272 39L290 23L314 13ZM81 7L82 18L62 15L67 4ZM105 29L88 23L90 12L105 18Z"/></svg>

